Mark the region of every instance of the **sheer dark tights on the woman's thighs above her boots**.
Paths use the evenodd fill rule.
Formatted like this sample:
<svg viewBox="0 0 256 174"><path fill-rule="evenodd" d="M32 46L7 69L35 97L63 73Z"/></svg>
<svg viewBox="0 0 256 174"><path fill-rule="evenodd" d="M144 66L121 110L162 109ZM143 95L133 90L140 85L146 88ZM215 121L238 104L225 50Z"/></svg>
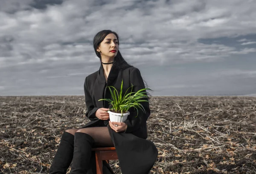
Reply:
<svg viewBox="0 0 256 174"><path fill-rule="evenodd" d="M74 128L66 132L75 135L76 132L82 132L90 135L95 141L94 147L113 147L108 127Z"/></svg>

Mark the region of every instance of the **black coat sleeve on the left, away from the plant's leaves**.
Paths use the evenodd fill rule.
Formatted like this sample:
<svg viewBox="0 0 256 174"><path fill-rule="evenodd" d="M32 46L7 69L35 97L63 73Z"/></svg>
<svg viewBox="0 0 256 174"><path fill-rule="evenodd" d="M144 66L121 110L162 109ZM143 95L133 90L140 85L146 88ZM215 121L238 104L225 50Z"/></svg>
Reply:
<svg viewBox="0 0 256 174"><path fill-rule="evenodd" d="M87 111L85 112L86 117L91 121L99 120L99 118L97 118L95 115L96 111L99 108L94 107L94 105L93 105L93 99L91 97L90 92L88 91L87 77L85 78L85 81L84 81L84 97L85 97L85 104L87 107Z"/></svg>

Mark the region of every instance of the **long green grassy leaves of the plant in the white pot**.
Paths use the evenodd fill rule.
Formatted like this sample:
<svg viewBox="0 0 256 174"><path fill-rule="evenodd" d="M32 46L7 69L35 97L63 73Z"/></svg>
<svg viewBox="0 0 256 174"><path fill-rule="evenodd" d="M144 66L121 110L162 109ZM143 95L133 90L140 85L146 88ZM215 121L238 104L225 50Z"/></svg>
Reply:
<svg viewBox="0 0 256 174"><path fill-rule="evenodd" d="M121 113L122 116L123 116L123 114L126 113L129 110L129 108L134 107L134 108L137 109L137 116L138 116L138 108L142 109L143 112L145 113L145 109L144 109L143 105L139 102L148 102L148 100L141 100L141 98L145 98L145 97L147 98L148 97L144 93L147 93L145 91L147 89L151 90L150 88L143 88L143 89L140 89L137 92L130 92L130 93L126 94L127 91L129 90L129 88L131 88L131 91L132 91L133 85L131 84L131 86L126 90L125 94L122 95L123 80L122 80L122 83L121 83L121 88L120 88L120 93L119 94L118 94L118 91L116 90L116 88L114 86L108 86L108 88L111 92L111 96L112 96L113 100L111 100L111 99L100 99L98 101L101 101L101 100L108 101L112 105L112 107L109 109L110 111L113 111L115 113ZM112 91L111 88L113 88L114 90Z"/></svg>

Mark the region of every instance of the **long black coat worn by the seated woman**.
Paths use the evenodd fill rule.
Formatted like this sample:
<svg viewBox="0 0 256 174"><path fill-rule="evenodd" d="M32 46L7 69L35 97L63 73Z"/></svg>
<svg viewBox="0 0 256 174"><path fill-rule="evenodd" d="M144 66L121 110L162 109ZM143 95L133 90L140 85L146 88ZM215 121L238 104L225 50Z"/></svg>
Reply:
<svg viewBox="0 0 256 174"><path fill-rule="evenodd" d="M134 92L145 88L139 69L129 67L120 70L112 66L108 75L107 86L114 86L119 92L122 80L123 94L131 86L131 84L134 85L132 90ZM137 110L130 109L130 115L128 115L128 118L125 121L127 124L126 131L116 132L108 125L108 121L99 120L95 116L97 109L109 108L107 101L98 101L102 98L112 98L110 91L105 87L105 84L106 80L102 65L100 66L99 71L96 71L85 78L84 94L85 103L87 106L87 112L85 115L88 117L90 122L83 126L83 128L95 127L105 123L105 125L108 126L108 131L116 148L122 174L148 174L153 167L158 154L154 143L146 140L146 120L150 115L149 103L142 102L146 112L144 113L140 109L137 117L135 117L137 115ZM103 172L105 174L110 173L109 171L113 172L112 170L108 170L110 167L107 163L104 163L104 165Z"/></svg>

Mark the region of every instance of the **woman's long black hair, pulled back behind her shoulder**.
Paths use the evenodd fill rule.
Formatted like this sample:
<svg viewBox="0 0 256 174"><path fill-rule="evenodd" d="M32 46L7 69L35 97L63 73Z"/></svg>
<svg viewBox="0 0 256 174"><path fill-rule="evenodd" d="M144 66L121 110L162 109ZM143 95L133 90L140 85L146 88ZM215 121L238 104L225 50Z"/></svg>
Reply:
<svg viewBox="0 0 256 174"><path fill-rule="evenodd" d="M116 38L117 38L117 44L119 45L119 37L118 37L118 34L115 32L115 31L111 31L111 30L102 30L102 31L99 31L93 38L93 47L94 47L94 51L97 55L97 57L99 57L99 60L100 62L102 63L102 58L101 58L101 55L100 53L97 51L97 48L99 47L99 44L104 40L104 38L108 35L108 34L115 34L116 35ZM124 58L122 57L119 49L117 51L117 54L116 54L116 57L114 57L114 63L113 63L113 67L114 68L117 68L117 69L126 69L126 68L129 68L129 67L134 67L130 64L128 64ZM144 84L145 84L145 88L148 88L148 84L144 81ZM148 89L149 91L153 91L151 89ZM148 97L148 100L151 98L151 94L147 92L147 95L150 96Z"/></svg>

